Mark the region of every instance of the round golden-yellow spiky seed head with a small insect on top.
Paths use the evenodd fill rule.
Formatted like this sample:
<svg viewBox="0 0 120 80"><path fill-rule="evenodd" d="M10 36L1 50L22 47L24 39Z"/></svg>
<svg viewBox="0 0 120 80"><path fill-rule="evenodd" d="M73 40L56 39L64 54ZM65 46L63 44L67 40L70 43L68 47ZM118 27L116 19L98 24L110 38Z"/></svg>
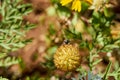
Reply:
<svg viewBox="0 0 120 80"><path fill-rule="evenodd" d="M80 65L80 54L77 47L71 44L60 46L54 54L54 64L63 71L73 71Z"/></svg>

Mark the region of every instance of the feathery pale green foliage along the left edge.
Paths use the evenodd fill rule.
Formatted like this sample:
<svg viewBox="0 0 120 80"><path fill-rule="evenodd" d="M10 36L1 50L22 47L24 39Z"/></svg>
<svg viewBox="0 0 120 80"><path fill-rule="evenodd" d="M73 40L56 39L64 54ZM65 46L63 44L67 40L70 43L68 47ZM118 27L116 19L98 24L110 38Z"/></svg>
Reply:
<svg viewBox="0 0 120 80"><path fill-rule="evenodd" d="M19 63L19 58L9 56L10 52L25 46L25 33L34 28L23 17L32 11L31 4L22 0L0 0L0 67L9 67ZM7 80L0 78L1 80Z"/></svg>

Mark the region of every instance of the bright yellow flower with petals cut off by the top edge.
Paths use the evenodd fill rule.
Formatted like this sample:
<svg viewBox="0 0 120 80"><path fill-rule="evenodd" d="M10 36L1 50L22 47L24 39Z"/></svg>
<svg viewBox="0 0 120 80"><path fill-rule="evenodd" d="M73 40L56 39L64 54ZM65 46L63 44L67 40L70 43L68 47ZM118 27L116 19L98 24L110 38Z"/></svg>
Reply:
<svg viewBox="0 0 120 80"><path fill-rule="evenodd" d="M65 6L72 2L72 10L80 12L81 11L81 1L82 0L61 0L60 3L62 4L62 6ZM92 2L93 2L93 0L84 0L84 1L86 1L90 4L92 4Z"/></svg>

